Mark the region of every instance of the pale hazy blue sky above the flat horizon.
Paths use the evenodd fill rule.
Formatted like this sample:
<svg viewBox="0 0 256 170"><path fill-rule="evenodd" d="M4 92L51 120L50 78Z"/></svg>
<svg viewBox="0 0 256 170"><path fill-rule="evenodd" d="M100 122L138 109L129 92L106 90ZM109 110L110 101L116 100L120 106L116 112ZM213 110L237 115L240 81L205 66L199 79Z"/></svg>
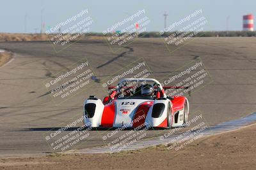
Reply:
<svg viewBox="0 0 256 170"><path fill-rule="evenodd" d="M123 20L143 9L150 18L148 31L160 31L164 28L164 11L168 14L167 25L170 25L200 9L208 21L205 25L206 31L225 31L228 16L228 30L240 31L243 24L242 16L248 13L256 15L255 6L255 0L2 0L0 32L35 32L35 29L39 32L41 11L45 27L49 27L85 9L89 10L89 15L93 19L90 27L90 31L93 32L102 32L118 20Z"/></svg>

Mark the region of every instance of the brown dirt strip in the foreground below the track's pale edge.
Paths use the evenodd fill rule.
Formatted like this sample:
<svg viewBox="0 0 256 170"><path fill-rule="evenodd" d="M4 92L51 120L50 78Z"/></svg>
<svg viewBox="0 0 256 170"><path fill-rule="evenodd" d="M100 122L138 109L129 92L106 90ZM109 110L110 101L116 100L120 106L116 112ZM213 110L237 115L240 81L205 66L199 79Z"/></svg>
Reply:
<svg viewBox="0 0 256 170"><path fill-rule="evenodd" d="M200 138L179 151L156 146L112 154L1 157L0 169L255 169L256 124Z"/></svg>

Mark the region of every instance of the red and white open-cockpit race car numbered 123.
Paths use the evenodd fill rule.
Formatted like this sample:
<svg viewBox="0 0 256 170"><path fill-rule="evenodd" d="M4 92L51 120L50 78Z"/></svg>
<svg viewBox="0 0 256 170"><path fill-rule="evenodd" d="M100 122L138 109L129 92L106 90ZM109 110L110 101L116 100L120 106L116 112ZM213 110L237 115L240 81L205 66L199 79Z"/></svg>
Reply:
<svg viewBox="0 0 256 170"><path fill-rule="evenodd" d="M146 90L152 90L145 96ZM149 88L148 88L149 87ZM168 89L153 78L125 78L109 87L103 102L95 96L84 101L84 125L91 127L182 127L186 125L189 102L184 96L166 96ZM147 91L148 92L148 91ZM144 93L144 94L143 94Z"/></svg>

